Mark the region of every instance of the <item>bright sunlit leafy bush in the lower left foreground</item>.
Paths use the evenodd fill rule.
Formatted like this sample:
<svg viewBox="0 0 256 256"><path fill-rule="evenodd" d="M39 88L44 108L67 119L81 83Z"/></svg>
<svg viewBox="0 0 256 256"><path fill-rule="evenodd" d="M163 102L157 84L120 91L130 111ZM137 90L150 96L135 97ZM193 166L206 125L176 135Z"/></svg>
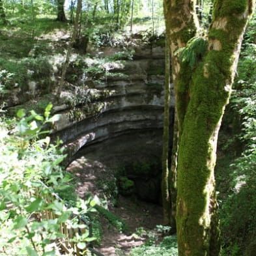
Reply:
<svg viewBox="0 0 256 256"><path fill-rule="evenodd" d="M57 115L50 117L51 107L46 107L44 115L33 110L26 115L20 109L17 120L1 117L0 246L7 255L55 255L55 241L63 237L59 224L84 227L77 218L68 220L69 216L90 212L95 205L93 200L77 201L73 208L66 208L64 201L53 195L54 188L70 178L60 166L64 155L59 143L51 145L42 129L58 119ZM56 218L42 218L45 210ZM81 246L91 240L88 236L78 235L75 242Z"/></svg>

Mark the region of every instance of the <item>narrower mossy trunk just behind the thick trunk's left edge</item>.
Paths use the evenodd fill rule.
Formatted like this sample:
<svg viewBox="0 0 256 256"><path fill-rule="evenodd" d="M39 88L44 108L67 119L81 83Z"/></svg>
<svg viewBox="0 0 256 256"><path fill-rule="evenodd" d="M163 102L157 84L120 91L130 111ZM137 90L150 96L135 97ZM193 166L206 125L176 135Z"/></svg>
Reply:
<svg viewBox="0 0 256 256"><path fill-rule="evenodd" d="M165 26L166 34L169 40L169 48L171 50L171 66L172 66L172 76L173 83L175 87L175 121L173 128L173 149L171 155L171 169L169 170L169 200L171 202L169 221L172 227L172 232L176 230L176 199L177 199L177 150L178 150L178 137L182 134L182 122L186 112L186 107L189 102L189 85L192 76L191 68L188 64L179 63L176 51L179 48L186 46L186 43L190 38L196 35L197 22L195 21L196 16L193 15L193 5L189 8L184 7L182 3L175 3L172 0L171 3L168 0L164 1L164 14L165 14ZM186 14L186 16L184 16ZM180 23L177 23L177 27L174 27L176 20L176 15L180 19ZM182 20L183 19L183 20ZM174 25L173 25L174 24ZM182 32L186 33L186 36L182 36ZM182 76L186 74L186 77ZM182 90L178 87L178 82L182 80ZM182 104L179 104L182 102Z"/></svg>

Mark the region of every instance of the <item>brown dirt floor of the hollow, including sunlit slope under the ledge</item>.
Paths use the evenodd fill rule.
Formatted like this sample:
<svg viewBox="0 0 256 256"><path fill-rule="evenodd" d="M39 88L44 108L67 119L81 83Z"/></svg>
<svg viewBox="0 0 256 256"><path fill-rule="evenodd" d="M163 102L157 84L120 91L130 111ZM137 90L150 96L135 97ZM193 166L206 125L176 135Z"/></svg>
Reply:
<svg viewBox="0 0 256 256"><path fill-rule="evenodd" d="M76 189L80 197L86 193L100 195L102 191L98 188L98 181L107 182L111 177L109 170L101 162L89 160L84 156L74 160L67 168L78 178ZM128 231L120 233L115 227L109 224L105 218L100 218L103 234L102 242L97 251L105 256L128 255L135 246L145 243L155 234L156 225L162 225L162 207L160 205L140 201L135 197L123 197L119 195L117 206L109 205L109 211L122 218L128 225ZM140 231L139 234L136 231Z"/></svg>

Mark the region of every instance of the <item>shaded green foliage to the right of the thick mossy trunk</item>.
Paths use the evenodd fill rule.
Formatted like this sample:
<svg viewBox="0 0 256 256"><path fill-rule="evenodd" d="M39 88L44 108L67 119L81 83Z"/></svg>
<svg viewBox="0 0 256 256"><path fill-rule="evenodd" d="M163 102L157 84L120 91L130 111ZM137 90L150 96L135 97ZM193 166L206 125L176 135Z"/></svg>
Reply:
<svg viewBox="0 0 256 256"><path fill-rule="evenodd" d="M238 63L238 78L231 97L232 110L238 113L242 128L238 138L244 145L240 156L233 160L231 193L221 207L224 255L253 255L255 248L256 212L256 62L255 18L246 33ZM236 124L235 124L236 125Z"/></svg>

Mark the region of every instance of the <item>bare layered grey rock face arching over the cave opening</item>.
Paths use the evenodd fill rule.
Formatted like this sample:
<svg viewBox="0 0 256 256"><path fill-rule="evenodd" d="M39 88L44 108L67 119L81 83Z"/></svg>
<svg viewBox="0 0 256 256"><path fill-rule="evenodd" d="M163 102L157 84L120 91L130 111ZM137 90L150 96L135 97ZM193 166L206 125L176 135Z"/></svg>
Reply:
<svg viewBox="0 0 256 256"><path fill-rule="evenodd" d="M100 54L113 55L115 48L110 49L101 48ZM93 85L94 89L111 91L100 100L100 111L85 117L82 113L79 121L68 121L69 110L61 112L55 135L64 141L73 158L88 156L112 166L160 160L164 48L135 48L133 58L121 64L109 64L111 74L122 76L110 76L103 83ZM174 106L173 98L171 105Z"/></svg>

